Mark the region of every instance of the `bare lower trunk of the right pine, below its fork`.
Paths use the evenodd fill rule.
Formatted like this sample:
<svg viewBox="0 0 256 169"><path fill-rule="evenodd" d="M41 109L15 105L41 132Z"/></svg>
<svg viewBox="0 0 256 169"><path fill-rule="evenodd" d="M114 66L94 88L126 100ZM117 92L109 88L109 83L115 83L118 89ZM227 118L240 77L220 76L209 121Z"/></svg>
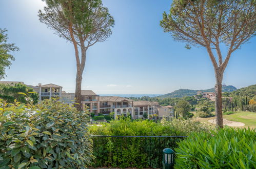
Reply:
<svg viewBox="0 0 256 169"><path fill-rule="evenodd" d="M215 117L216 127L223 128L223 117L222 117L222 78L216 75L215 85Z"/></svg>

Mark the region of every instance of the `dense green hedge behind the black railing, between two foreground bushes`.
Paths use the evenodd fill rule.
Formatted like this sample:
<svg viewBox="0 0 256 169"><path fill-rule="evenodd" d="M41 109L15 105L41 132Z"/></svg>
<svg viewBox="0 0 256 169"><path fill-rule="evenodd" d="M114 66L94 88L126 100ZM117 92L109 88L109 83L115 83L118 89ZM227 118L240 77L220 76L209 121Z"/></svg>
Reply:
<svg viewBox="0 0 256 169"><path fill-rule="evenodd" d="M92 135L105 136L187 136L208 131L199 122L165 118L160 123L150 120L121 118L110 123L92 125ZM174 148L182 138L93 137L94 167L162 167L162 150Z"/></svg>

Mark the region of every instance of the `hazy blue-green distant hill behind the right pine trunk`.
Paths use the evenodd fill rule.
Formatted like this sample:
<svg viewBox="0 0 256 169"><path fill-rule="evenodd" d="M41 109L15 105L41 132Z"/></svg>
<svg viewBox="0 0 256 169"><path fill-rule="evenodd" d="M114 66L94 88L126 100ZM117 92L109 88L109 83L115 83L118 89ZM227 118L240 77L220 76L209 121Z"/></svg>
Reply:
<svg viewBox="0 0 256 169"><path fill-rule="evenodd" d="M232 92L237 90L237 88L233 86L222 86L222 92ZM179 89L175 90L171 93L157 96L158 98L175 98L175 97L185 97L185 96L193 96L196 95L200 90L190 90L190 89ZM203 92L214 92L214 88L201 90Z"/></svg>

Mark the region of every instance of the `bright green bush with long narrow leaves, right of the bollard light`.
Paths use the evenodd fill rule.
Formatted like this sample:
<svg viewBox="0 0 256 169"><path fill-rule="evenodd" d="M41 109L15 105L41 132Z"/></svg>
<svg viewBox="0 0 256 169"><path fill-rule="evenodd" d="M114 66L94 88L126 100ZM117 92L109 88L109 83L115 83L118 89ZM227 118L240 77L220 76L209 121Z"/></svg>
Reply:
<svg viewBox="0 0 256 169"><path fill-rule="evenodd" d="M175 168L256 168L256 130L192 133L175 149Z"/></svg>

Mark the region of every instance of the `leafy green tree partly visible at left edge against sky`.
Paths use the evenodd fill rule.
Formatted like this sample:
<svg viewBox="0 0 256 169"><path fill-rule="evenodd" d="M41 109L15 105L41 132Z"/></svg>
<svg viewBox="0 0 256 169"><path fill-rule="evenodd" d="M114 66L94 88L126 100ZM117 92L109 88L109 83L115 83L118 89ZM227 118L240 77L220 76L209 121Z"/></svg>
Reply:
<svg viewBox="0 0 256 169"><path fill-rule="evenodd" d="M15 60L11 52L19 50L15 44L9 44L7 42L8 36L6 32L6 29L0 28L0 79L6 77L6 67L9 67L10 69L10 66L12 65L11 61Z"/></svg>

